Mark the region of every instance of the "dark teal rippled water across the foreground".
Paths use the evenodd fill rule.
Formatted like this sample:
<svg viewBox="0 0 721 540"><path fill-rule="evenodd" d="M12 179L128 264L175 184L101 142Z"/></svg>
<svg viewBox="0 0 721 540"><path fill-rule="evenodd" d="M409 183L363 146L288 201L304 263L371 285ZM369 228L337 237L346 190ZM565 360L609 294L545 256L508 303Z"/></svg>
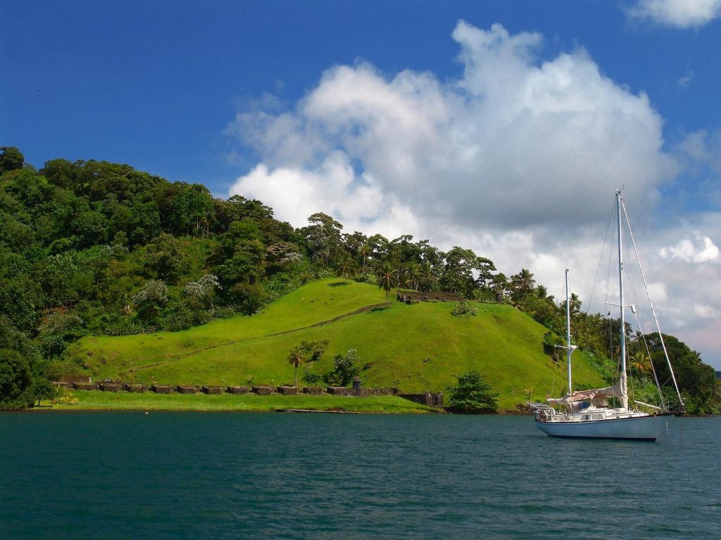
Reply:
<svg viewBox="0 0 721 540"><path fill-rule="evenodd" d="M0 415L3 539L721 538L721 418L657 443L530 417Z"/></svg>

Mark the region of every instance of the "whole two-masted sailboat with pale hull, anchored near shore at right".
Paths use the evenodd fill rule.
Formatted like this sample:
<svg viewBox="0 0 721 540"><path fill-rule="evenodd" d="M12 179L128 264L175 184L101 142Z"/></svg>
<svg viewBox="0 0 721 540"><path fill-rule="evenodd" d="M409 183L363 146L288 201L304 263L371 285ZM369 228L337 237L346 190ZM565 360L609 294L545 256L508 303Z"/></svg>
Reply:
<svg viewBox="0 0 721 540"><path fill-rule="evenodd" d="M634 406L629 407L628 381L626 373L626 321L624 307L624 274L623 274L623 251L622 251L622 215L626 215L620 190L616 190L616 217L618 228L618 249L619 249L619 309L621 312L621 369L619 381L611 387L594 388L592 390L576 390L572 388L571 379L571 355L575 346L571 344L570 330L570 302L568 292L568 270L565 272L566 282L566 349L567 370L568 370L568 391L564 397L549 398L545 403L528 402L528 406L534 413L536 426L549 436L567 438L614 438L629 439L635 441L655 441L658 438L665 421L664 415L683 412L671 411L661 397L661 407L647 403L634 401ZM627 219L628 220L628 219ZM629 229L630 230L630 229ZM633 236L631 236L633 238ZM634 246L635 247L635 246ZM650 298L649 298L650 300ZM650 302L653 311L653 302ZM655 317L658 328L658 320ZM659 336L662 336L660 329ZM663 336L662 336L663 339ZM663 343L663 342L662 342ZM665 346L664 346L665 352ZM668 361L668 355L666 355ZM683 400L678 392L678 384L673 376L671 362L668 361L671 372L671 379L676 388L678 402L683 408ZM657 381L658 387L658 381ZM660 393L660 387L658 388ZM609 407L606 399L616 398L619 406ZM640 410L641 405L645 410ZM650 412L647 412L650 410Z"/></svg>

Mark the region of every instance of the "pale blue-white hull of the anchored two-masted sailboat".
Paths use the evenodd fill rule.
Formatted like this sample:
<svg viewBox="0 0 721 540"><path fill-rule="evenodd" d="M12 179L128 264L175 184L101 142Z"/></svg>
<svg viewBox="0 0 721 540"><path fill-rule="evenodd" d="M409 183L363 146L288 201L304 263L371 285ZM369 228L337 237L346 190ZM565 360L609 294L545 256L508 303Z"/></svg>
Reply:
<svg viewBox="0 0 721 540"><path fill-rule="evenodd" d="M578 422L536 420L536 426L552 437L622 438L634 441L655 441L663 420L658 416L583 420Z"/></svg>

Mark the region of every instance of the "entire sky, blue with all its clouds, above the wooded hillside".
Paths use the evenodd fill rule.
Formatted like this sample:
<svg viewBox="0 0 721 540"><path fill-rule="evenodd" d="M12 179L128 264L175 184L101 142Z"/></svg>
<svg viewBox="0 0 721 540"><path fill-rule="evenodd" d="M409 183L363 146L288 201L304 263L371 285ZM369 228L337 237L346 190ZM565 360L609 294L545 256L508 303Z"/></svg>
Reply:
<svg viewBox="0 0 721 540"><path fill-rule="evenodd" d="M668 331L721 369L720 16L718 0L0 0L0 144L242 192L296 226L321 210L461 243L549 287L566 266L592 279L596 199L627 184Z"/></svg>

